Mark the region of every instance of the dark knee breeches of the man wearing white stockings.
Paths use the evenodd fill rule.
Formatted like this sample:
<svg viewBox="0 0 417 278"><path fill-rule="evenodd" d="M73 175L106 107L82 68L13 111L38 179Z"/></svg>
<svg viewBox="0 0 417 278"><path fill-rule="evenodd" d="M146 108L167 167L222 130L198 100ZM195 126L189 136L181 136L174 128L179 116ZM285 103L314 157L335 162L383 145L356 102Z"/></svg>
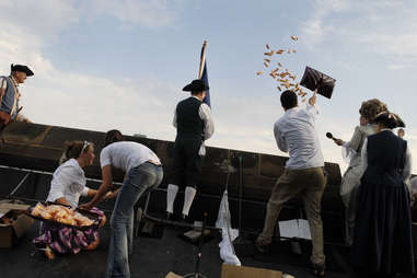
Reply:
<svg viewBox="0 0 417 278"><path fill-rule="evenodd" d="M171 184L179 187L197 186L201 174L201 158L198 155L200 146L199 138L176 137Z"/></svg>

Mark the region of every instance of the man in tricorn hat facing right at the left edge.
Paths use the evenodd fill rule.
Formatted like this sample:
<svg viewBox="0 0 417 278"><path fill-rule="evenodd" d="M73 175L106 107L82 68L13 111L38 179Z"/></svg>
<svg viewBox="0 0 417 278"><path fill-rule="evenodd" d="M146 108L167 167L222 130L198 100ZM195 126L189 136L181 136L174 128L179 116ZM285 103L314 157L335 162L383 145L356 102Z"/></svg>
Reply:
<svg viewBox="0 0 417 278"><path fill-rule="evenodd" d="M22 115L19 115L19 100L21 93L19 84L23 83L27 77L34 73L23 65L11 65L9 77L0 77L0 128L9 124L10 120L30 121Z"/></svg>

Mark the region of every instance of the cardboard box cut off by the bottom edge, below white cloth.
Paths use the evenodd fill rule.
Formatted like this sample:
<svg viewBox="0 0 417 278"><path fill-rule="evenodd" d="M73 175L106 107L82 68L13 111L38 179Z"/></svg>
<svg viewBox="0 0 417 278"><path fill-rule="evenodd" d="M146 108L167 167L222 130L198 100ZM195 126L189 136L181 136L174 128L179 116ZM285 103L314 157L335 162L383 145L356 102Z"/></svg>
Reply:
<svg viewBox="0 0 417 278"><path fill-rule="evenodd" d="M282 278L281 271L223 264L221 266L221 278Z"/></svg>

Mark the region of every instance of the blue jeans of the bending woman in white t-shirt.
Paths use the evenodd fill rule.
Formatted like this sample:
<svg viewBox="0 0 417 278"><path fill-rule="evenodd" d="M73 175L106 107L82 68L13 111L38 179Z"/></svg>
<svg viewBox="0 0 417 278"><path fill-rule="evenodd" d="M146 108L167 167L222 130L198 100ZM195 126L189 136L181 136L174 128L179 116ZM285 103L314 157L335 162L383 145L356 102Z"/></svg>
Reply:
<svg viewBox="0 0 417 278"><path fill-rule="evenodd" d="M147 190L160 185L162 166L146 162L131 169L117 196L111 218L106 277L130 277L128 254L132 252L134 206Z"/></svg>

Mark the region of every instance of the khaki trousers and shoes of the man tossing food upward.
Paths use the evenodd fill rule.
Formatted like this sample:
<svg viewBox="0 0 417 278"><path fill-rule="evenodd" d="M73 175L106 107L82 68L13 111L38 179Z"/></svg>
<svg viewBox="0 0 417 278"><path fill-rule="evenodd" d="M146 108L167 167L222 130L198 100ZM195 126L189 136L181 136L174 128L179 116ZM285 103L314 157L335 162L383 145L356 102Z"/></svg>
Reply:
<svg viewBox="0 0 417 278"><path fill-rule="evenodd" d="M321 202L325 186L326 177L322 167L286 170L274 186L267 205L264 231L257 238L256 243L259 245L271 243L274 229L282 205L301 194L313 244L313 254L310 259L315 265L325 264L321 217Z"/></svg>

